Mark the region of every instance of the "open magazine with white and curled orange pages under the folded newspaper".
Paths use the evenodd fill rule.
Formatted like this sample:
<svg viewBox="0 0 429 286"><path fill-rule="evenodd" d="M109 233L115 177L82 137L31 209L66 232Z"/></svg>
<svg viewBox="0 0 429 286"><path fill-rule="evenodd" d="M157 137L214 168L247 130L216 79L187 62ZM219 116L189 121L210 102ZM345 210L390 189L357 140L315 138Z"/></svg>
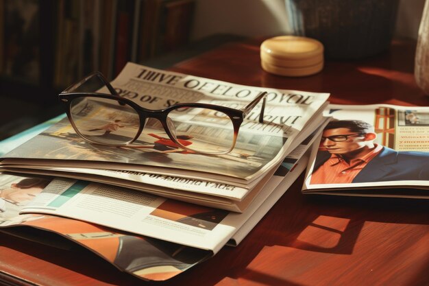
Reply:
<svg viewBox="0 0 429 286"><path fill-rule="evenodd" d="M0 174L0 230L58 246L52 237L29 231L47 230L124 272L166 280L208 259L227 241L237 245L305 169L315 138L282 161L240 214L106 184Z"/></svg>

